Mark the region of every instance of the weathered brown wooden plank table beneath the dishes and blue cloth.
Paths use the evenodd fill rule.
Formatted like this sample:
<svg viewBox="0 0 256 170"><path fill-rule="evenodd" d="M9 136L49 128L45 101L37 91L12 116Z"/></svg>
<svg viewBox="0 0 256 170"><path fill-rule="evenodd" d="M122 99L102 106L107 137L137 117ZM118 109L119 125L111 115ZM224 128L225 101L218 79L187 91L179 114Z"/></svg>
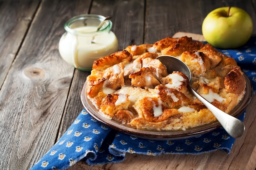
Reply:
<svg viewBox="0 0 256 170"><path fill-rule="evenodd" d="M80 90L90 73L74 69L58 53L68 19L85 13L112 15L112 31L122 50L177 32L202 34L204 17L223 6L245 9L256 33L256 0L0 1L0 169L31 168L83 108ZM195 34L194 39L203 40ZM254 170L255 105L254 96L245 117L245 134L236 139L229 155L221 151L197 156L127 154L121 163L79 162L69 170Z"/></svg>

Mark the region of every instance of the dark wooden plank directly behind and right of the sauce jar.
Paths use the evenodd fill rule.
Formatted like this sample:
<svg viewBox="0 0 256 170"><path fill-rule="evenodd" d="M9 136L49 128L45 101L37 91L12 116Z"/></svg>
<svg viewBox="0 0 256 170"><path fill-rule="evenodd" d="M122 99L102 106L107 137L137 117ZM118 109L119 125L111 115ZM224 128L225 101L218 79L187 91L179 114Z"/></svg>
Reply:
<svg viewBox="0 0 256 170"><path fill-rule="evenodd" d="M143 44L144 0L94 0L91 13L115 16L112 30L119 41L119 50L132 44Z"/></svg>

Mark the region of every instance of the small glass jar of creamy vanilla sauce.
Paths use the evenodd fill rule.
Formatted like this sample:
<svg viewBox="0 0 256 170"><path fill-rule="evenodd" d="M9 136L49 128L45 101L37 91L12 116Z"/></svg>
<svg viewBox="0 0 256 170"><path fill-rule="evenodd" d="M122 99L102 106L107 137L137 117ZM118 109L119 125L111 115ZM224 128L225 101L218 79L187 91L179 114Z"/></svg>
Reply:
<svg viewBox="0 0 256 170"><path fill-rule="evenodd" d="M62 35L58 49L67 63L79 70L91 71L95 60L117 52L117 37L110 31L112 22L108 20L97 31L104 19L101 15L84 14L65 23L66 33Z"/></svg>

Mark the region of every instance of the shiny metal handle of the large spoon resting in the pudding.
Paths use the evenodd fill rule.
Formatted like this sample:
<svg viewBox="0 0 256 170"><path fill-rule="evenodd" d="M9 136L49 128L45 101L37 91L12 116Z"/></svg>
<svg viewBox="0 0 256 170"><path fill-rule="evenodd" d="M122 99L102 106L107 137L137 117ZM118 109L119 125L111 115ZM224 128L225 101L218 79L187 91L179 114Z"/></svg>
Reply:
<svg viewBox="0 0 256 170"><path fill-rule="evenodd" d="M206 106L213 113L213 115L231 137L236 138L243 135L245 125L242 121L213 106L210 102L204 99L204 97L195 92L191 86L190 88L193 95L195 95L195 97L197 97L204 104L204 106Z"/></svg>

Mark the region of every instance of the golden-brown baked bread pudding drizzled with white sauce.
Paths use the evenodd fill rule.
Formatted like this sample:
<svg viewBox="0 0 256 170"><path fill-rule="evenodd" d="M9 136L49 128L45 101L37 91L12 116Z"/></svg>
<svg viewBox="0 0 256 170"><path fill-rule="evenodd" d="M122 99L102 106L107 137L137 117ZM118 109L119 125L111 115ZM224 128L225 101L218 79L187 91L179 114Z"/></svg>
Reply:
<svg viewBox="0 0 256 170"><path fill-rule="evenodd" d="M245 94L245 78L233 58L185 36L128 46L94 61L86 80L88 99L106 119L139 130L186 130L216 121L188 90L188 77L167 73L159 55L186 63L195 91L225 113Z"/></svg>

